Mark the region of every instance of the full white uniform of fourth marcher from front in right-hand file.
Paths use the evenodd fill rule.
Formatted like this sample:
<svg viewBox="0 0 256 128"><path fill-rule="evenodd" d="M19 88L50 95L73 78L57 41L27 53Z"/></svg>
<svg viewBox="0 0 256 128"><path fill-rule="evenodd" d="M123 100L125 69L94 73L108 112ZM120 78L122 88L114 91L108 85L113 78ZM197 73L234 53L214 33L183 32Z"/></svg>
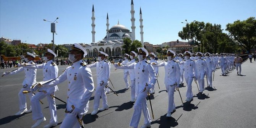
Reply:
<svg viewBox="0 0 256 128"><path fill-rule="evenodd" d="M208 73L208 68L205 60L198 59L195 61L196 63L196 72L197 72L197 80L199 86L199 92L204 91L204 75Z"/></svg>

